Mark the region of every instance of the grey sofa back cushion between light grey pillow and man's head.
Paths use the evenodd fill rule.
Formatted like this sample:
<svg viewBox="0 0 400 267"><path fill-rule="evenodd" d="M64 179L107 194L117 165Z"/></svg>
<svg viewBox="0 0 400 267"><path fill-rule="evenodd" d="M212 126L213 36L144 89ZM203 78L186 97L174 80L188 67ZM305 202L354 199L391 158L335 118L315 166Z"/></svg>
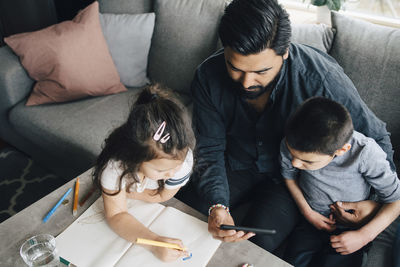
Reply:
<svg viewBox="0 0 400 267"><path fill-rule="evenodd" d="M149 77L189 92L198 64L216 49L225 0L156 0Z"/></svg>

